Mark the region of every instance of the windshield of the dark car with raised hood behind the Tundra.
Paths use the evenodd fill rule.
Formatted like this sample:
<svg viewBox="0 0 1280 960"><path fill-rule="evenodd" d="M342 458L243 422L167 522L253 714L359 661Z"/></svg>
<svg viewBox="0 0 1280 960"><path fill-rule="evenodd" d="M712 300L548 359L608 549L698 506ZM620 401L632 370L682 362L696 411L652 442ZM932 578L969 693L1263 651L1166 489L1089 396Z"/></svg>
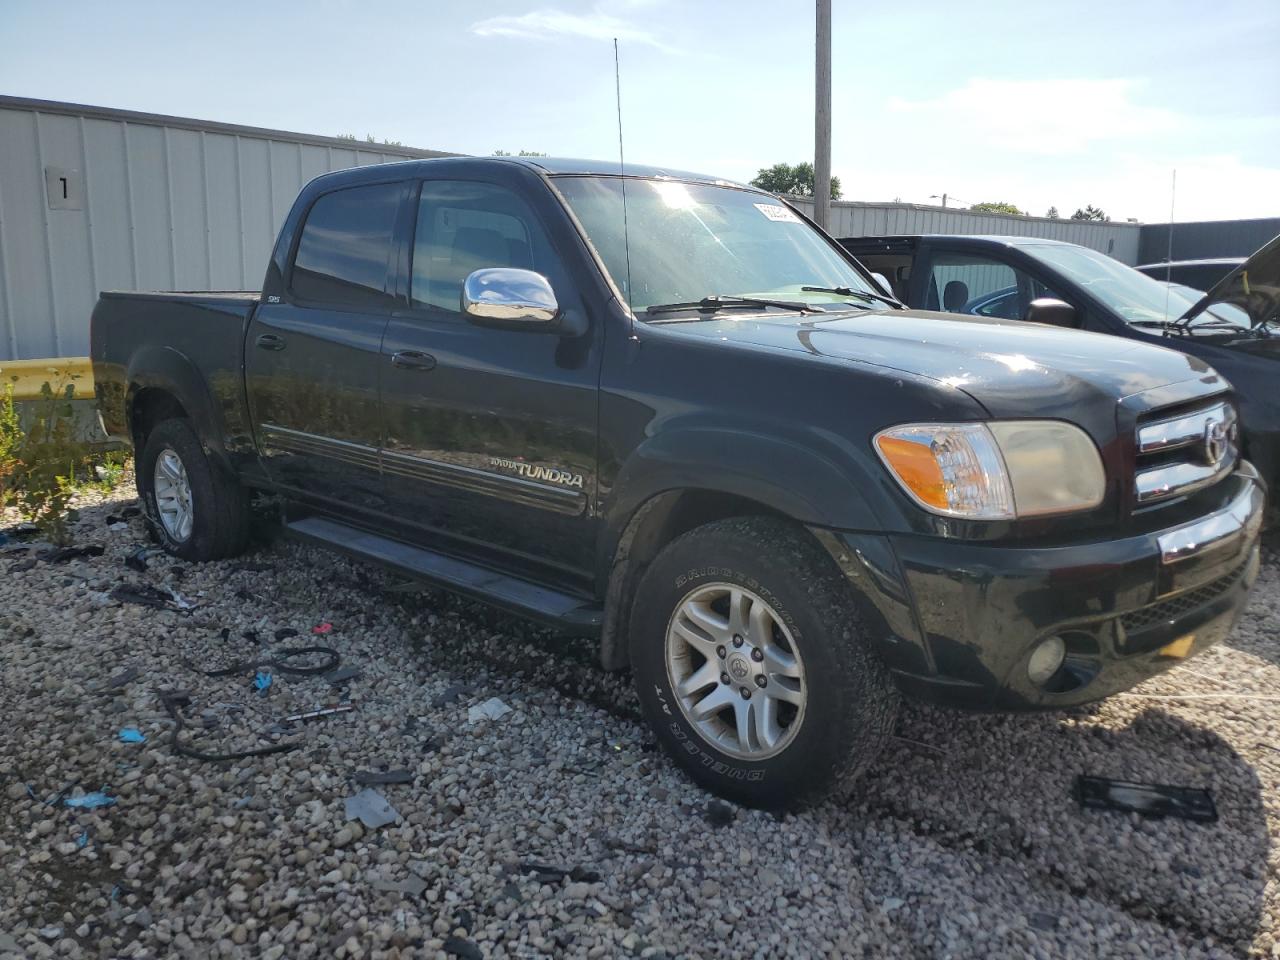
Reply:
<svg viewBox="0 0 1280 960"><path fill-rule="evenodd" d="M1115 311L1125 323L1143 326L1172 323L1190 310L1203 294L1180 284L1166 284L1140 274L1106 253L1068 243L1034 243L1023 247L1042 264L1065 274ZM1207 310L1192 323L1248 328L1239 311Z"/></svg>

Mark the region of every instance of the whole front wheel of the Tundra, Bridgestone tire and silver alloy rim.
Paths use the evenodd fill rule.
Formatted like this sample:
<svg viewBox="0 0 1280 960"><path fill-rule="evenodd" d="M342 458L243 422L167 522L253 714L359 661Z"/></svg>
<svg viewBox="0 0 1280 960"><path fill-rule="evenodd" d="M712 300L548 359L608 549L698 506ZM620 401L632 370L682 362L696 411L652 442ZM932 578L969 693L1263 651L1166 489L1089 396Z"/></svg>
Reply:
<svg viewBox="0 0 1280 960"><path fill-rule="evenodd" d="M692 530L654 559L631 618L640 703L714 792L800 806L847 790L892 731L897 692L847 581L791 524Z"/></svg>

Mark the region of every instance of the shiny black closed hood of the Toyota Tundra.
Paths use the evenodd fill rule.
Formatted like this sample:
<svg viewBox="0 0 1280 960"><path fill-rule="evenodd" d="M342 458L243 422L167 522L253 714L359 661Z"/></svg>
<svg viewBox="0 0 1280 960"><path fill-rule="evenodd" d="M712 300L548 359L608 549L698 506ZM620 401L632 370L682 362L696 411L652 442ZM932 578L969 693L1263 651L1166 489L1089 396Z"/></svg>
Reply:
<svg viewBox="0 0 1280 960"><path fill-rule="evenodd" d="M1114 408L1126 397L1185 380L1203 381L1188 396L1226 385L1204 361L1165 347L923 310L721 316L675 329L925 376L963 390L996 417L1033 411L1075 420L1084 401L1106 399Z"/></svg>

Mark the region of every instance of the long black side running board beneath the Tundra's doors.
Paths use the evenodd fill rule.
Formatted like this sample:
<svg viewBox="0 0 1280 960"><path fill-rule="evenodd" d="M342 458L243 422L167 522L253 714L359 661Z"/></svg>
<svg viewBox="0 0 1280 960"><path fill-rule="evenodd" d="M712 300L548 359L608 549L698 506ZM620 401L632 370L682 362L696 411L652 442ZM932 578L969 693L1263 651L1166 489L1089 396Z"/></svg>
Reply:
<svg viewBox="0 0 1280 960"><path fill-rule="evenodd" d="M604 612L598 604L552 588L497 573L454 557L411 547L326 517L305 517L284 525L288 535L324 544L339 553L372 561L453 593L503 607L566 630L599 632Z"/></svg>

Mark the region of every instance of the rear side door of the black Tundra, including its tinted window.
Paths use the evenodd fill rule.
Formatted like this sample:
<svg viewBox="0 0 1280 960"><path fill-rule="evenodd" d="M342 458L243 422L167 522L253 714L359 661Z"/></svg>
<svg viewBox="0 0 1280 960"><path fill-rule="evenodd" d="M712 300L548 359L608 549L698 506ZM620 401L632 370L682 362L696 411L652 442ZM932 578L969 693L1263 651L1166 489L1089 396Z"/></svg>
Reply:
<svg viewBox="0 0 1280 960"><path fill-rule="evenodd" d="M270 479L335 509L381 512L381 343L396 307L397 220L408 183L321 193L307 211L278 303L244 351Z"/></svg>

